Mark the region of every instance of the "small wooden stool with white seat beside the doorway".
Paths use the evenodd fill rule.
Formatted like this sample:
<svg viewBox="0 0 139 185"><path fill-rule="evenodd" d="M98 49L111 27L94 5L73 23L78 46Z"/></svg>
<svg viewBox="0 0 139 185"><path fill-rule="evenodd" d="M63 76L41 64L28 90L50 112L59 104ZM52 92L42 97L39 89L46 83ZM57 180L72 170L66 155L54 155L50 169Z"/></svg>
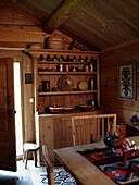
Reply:
<svg viewBox="0 0 139 185"><path fill-rule="evenodd" d="M27 160L28 160L28 152L33 152L34 155L34 160L35 160L35 166L37 166L37 151L38 151L39 147L37 146L37 144L33 144L33 143L25 143L23 146L23 162L24 159L26 159L25 162L25 169L27 169Z"/></svg>

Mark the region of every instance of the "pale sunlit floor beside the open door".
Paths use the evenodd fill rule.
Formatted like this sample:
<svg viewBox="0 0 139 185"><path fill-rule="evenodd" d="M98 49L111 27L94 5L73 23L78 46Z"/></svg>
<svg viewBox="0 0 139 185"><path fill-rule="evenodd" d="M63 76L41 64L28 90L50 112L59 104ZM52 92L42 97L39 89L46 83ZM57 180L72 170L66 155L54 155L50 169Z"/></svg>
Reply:
<svg viewBox="0 0 139 185"><path fill-rule="evenodd" d="M63 170L62 166L54 166L54 172ZM25 162L23 160L17 161L17 171L10 172L0 170L0 185L20 185L20 184L27 184L27 185L43 185L41 180L47 174L46 168L40 166L37 163L37 168L35 166L34 160L28 160L27 169L25 169ZM40 177L41 175L41 177Z"/></svg>

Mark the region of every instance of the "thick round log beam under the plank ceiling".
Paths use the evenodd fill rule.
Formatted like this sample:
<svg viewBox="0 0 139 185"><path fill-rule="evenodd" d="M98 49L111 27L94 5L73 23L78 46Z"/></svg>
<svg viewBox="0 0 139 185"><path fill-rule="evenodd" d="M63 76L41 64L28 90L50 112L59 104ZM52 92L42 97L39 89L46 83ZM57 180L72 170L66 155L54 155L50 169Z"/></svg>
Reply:
<svg viewBox="0 0 139 185"><path fill-rule="evenodd" d="M75 11L77 11L87 0L64 0L53 11L46 24L43 30L51 34L59 28Z"/></svg>

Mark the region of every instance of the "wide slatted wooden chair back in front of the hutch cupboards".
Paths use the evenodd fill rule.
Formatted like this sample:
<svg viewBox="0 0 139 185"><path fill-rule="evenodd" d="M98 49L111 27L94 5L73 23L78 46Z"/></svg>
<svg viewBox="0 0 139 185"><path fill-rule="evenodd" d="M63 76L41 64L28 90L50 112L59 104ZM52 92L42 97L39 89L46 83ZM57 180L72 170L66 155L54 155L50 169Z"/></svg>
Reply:
<svg viewBox="0 0 139 185"><path fill-rule="evenodd" d="M116 114L73 116L72 130L74 146L100 141L104 135L116 134Z"/></svg>

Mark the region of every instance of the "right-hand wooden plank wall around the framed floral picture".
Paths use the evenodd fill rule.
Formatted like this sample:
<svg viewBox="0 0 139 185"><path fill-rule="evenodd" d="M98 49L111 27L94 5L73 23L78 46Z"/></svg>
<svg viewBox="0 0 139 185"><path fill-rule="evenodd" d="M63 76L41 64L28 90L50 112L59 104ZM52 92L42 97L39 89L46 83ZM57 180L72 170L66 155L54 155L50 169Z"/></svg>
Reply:
<svg viewBox="0 0 139 185"><path fill-rule="evenodd" d="M118 99L118 63L137 61L137 100ZM106 113L116 113L117 122L129 123L139 116L139 42L101 54L101 104Z"/></svg>

